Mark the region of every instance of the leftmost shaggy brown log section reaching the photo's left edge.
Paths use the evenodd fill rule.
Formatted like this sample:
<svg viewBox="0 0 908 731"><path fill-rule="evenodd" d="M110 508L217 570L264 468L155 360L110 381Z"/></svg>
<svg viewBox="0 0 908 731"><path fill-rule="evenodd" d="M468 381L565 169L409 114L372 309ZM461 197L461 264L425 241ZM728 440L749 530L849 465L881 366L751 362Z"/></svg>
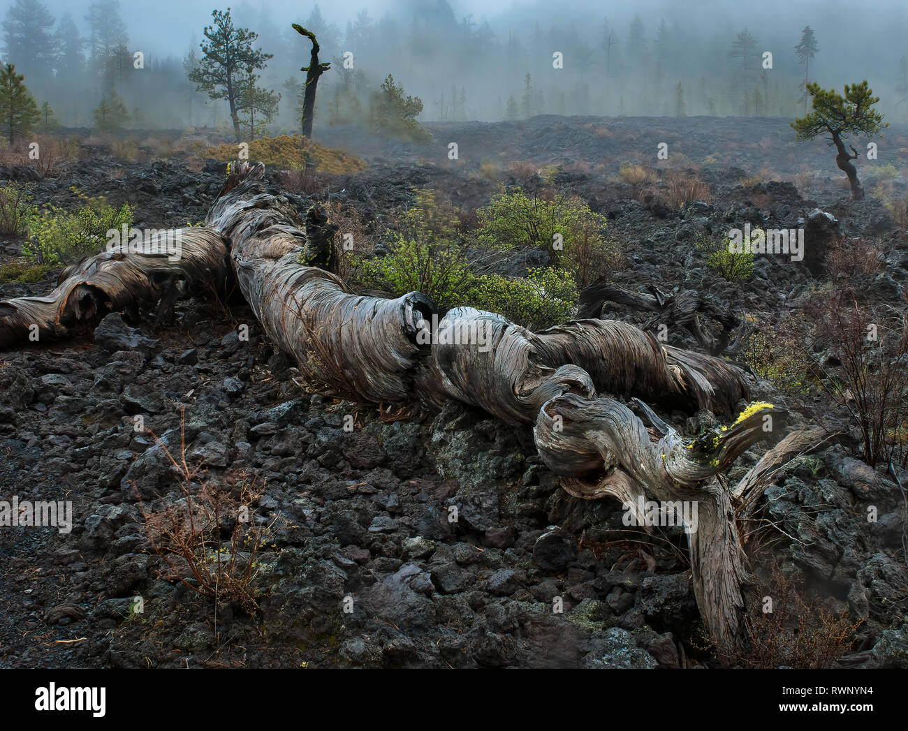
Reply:
<svg viewBox="0 0 908 731"><path fill-rule="evenodd" d="M74 324L112 311L160 303L160 317L178 296L202 284L222 289L229 276L224 240L208 229L176 229L123 242L64 269L44 297L0 301L0 348L35 335L62 337Z"/></svg>

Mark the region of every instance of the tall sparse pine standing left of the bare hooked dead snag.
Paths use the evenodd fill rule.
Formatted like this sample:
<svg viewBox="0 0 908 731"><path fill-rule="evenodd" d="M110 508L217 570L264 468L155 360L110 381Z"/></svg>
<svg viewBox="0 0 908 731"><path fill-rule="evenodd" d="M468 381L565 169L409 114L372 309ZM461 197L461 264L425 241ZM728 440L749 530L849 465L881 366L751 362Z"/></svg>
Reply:
<svg viewBox="0 0 908 731"><path fill-rule="evenodd" d="M259 35L248 28L233 25L230 8L226 12L213 10L212 18L213 25L206 25L204 30L208 40L200 44L202 59L189 74L189 80L196 84L196 91L205 92L212 100L227 100L233 134L239 143L242 137L237 99L241 91L242 74L251 74L255 69L264 68L272 56L263 53L261 48L252 48Z"/></svg>

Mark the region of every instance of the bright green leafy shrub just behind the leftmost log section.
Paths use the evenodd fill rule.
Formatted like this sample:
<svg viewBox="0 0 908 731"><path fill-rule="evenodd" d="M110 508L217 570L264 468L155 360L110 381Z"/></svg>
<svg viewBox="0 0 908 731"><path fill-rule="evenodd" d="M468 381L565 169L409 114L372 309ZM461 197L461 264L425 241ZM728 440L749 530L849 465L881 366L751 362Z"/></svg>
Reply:
<svg viewBox="0 0 908 731"><path fill-rule="evenodd" d="M107 232L133 226L133 206L114 207L104 198L89 198L76 212L48 206L28 220L28 239L22 247L25 259L35 264L68 264L104 249Z"/></svg>

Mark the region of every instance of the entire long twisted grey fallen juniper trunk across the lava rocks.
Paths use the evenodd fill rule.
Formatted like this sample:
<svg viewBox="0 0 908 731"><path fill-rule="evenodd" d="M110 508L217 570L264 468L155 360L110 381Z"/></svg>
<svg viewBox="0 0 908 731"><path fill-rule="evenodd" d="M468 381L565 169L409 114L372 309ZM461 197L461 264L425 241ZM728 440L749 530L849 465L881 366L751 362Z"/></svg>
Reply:
<svg viewBox="0 0 908 731"><path fill-rule="evenodd" d="M617 321L584 319L533 333L471 308L439 321L435 305L419 292L396 299L358 295L312 266L330 265L333 232L319 209L303 214L290 196L269 186L262 164L236 163L205 231L192 238L197 245L184 247L178 272L188 282L199 272L221 277L219 242L226 242L232 274L263 330L315 390L428 407L459 400L511 424L535 424L542 459L571 495L615 497L637 519L643 518L641 499L696 505L696 525L686 523L696 599L720 655L734 657L746 641L740 521L752 517L775 469L824 435L798 431L782 440L785 412L756 404L730 426L685 443L646 403L729 414L749 396L734 365L665 347ZM153 267L139 276L110 265L106 271L114 280L122 272L122 284L99 286L93 272L104 268L107 256L69 272L65 288L95 287L95 311L154 299ZM68 301L64 285L46 298L58 303L54 316L42 318L57 334L62 331L48 321L73 317L55 314L68 312L59 306ZM0 329L28 326L21 301L3 306ZM635 403L649 429L617 400L597 398L599 392L643 399ZM782 441L734 489L716 479L760 440Z"/></svg>

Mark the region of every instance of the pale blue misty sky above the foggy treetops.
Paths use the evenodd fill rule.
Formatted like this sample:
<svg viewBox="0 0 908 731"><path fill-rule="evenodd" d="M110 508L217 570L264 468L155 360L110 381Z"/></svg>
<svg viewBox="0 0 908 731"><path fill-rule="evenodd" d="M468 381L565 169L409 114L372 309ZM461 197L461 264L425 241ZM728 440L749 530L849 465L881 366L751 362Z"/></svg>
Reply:
<svg viewBox="0 0 908 731"><path fill-rule="evenodd" d="M386 12L392 15L408 16L414 5L432 5L434 0L370 0L369 2L321 3L289 2L288 0L252 0L254 7L267 7L278 19L286 17L287 24L299 23L310 13L313 5L319 5L321 14L341 26L360 10L367 9L373 18ZM0 4L5 5L5 3ZM69 11L86 32L84 22L88 0L47 0L46 5L55 16ZM183 55L190 43L192 33L202 35L202 28L211 20L214 7L227 5L237 7L242 2L212 3L212 0L124 0L122 14L128 25L131 45L135 48L147 45L153 54ZM901 55L908 47L908 3L905 0L876 0L873 5L844 2L844 0L760 0L743 3L741 0L635 0L634 2L614 0L450 0L455 17L473 14L481 23L488 20L493 30L507 35L509 25L525 25L538 20L545 23L549 18L564 22L576 17L578 30L583 31L584 18L593 20L590 35L598 30L597 22L607 16L614 25L627 27L634 15L640 15L653 31L661 18L671 23L677 19L682 25L694 23L697 27L716 25L717 29L748 29L765 43L771 45L775 35L780 41L780 50L790 50L788 36L799 31L804 25L812 25L817 36L830 48L842 44L843 54L853 58L856 64L873 61L888 46L893 53ZM883 21L883 16L901 17L902 25ZM895 52L892 49L901 48ZM845 51L847 48L847 51Z"/></svg>

